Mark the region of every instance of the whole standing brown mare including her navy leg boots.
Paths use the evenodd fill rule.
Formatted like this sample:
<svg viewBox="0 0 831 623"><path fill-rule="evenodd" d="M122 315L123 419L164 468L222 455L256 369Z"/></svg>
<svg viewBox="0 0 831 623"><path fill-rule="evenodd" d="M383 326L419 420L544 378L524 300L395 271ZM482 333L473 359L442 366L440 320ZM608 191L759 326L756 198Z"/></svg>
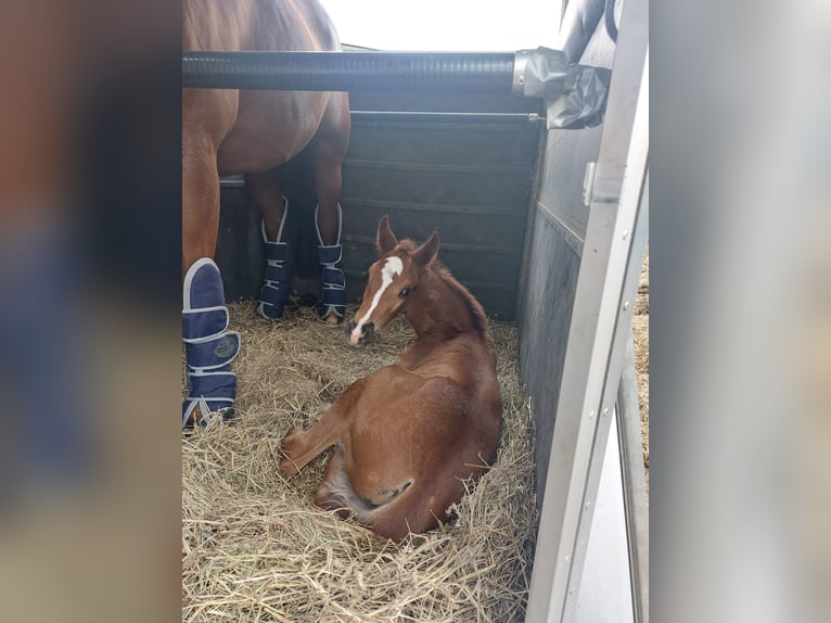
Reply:
<svg viewBox="0 0 831 623"><path fill-rule="evenodd" d="M183 0L182 49L225 51L340 50L334 26L317 0ZM189 394L182 427L208 414L233 414L231 361L240 336L228 331L219 268L219 177L245 176L263 212L265 281L257 312L283 314L294 264L296 208L280 194L276 167L306 150L318 198L320 315L336 325L346 292L341 262L341 164L349 141L345 92L182 89L182 340Z"/></svg>

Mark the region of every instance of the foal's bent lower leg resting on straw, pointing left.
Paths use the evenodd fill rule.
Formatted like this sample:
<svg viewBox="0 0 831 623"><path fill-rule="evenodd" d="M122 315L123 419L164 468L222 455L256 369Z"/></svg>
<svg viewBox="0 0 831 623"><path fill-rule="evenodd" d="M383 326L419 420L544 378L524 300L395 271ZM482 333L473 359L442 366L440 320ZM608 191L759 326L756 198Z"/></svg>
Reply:
<svg viewBox="0 0 831 623"><path fill-rule="evenodd" d="M311 459L343 440L349 428L351 409L363 393L365 386L365 379L349 385L335 404L327 409L320 421L308 431L296 427L286 433L281 443L284 455L279 462L281 472L285 475L296 475Z"/></svg>

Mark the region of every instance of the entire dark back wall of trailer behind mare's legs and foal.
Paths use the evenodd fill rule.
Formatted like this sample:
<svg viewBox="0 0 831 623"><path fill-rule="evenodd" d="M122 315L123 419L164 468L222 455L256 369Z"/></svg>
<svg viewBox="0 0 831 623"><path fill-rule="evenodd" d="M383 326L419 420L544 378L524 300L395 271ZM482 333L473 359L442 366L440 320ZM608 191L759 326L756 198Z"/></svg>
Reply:
<svg viewBox="0 0 831 623"><path fill-rule="evenodd" d="M540 102L519 97L353 93L353 132L343 166L342 268L347 297L363 294L378 257L379 218L399 238L440 233L440 257L501 320L515 319ZM318 288L314 181L304 154L281 170L283 192L303 212L295 285ZM221 182L217 263L229 300L259 291L259 213L240 178Z"/></svg>

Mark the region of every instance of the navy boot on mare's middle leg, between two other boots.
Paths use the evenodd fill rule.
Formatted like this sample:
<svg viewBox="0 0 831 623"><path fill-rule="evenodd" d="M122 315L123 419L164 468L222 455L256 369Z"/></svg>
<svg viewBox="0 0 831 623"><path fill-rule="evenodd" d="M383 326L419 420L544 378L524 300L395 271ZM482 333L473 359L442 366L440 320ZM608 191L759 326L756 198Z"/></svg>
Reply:
<svg viewBox="0 0 831 623"><path fill-rule="evenodd" d="M283 307L292 290L295 241L297 240L296 215L289 209L289 200L283 198L283 221L277 240L271 242L266 233L266 221L260 225L266 253L266 272L263 289L257 298L257 314L269 320L283 317Z"/></svg>

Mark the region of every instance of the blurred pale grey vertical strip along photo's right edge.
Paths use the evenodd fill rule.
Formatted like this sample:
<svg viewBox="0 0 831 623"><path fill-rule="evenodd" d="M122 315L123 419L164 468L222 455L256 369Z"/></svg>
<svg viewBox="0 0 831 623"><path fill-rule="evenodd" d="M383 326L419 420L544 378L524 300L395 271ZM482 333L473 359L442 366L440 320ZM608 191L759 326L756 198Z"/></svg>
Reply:
<svg viewBox="0 0 831 623"><path fill-rule="evenodd" d="M654 620L828 620L831 7L651 16Z"/></svg>

